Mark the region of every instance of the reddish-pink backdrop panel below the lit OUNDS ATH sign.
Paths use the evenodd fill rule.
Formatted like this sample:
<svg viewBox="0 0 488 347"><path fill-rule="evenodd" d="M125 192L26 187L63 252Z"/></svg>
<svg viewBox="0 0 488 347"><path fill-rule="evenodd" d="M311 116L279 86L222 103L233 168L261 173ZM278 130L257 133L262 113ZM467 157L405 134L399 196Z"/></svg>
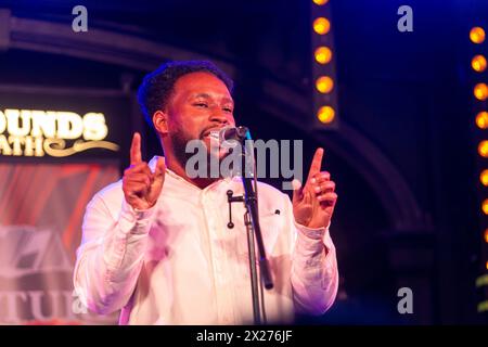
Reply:
<svg viewBox="0 0 488 347"><path fill-rule="evenodd" d="M108 165L0 164L0 323L114 322L84 313L73 266L85 206L118 177Z"/></svg>

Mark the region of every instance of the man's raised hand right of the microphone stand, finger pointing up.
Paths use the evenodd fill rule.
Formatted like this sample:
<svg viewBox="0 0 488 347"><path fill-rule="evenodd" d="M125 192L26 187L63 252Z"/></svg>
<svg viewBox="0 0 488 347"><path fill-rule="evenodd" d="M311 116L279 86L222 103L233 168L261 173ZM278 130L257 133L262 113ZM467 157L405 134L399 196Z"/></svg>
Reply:
<svg viewBox="0 0 488 347"><path fill-rule="evenodd" d="M305 187L298 180L294 181L293 215L295 221L308 228L328 227L334 214L337 194L331 174L320 171L323 149L318 149L308 172Z"/></svg>

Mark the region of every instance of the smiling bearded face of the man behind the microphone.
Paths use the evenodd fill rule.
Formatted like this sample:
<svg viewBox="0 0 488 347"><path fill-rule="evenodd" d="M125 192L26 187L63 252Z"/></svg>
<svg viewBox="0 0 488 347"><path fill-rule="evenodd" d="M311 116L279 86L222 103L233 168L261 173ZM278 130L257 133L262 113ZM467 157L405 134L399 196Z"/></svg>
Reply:
<svg viewBox="0 0 488 347"><path fill-rule="evenodd" d="M215 141L209 137L210 131L235 126L232 97L227 86L210 73L198 72L180 77L167 111L169 139L175 154L183 164L188 141L202 140L210 151L210 143Z"/></svg>

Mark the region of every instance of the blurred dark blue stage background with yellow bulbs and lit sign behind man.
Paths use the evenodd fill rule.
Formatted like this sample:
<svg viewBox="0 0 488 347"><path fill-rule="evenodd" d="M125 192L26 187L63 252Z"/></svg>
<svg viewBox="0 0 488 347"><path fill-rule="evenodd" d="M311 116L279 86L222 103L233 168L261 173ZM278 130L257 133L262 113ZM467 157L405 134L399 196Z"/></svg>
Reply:
<svg viewBox="0 0 488 347"><path fill-rule="evenodd" d="M0 323L116 321L73 294L85 206L133 131L160 154L143 76L202 59L254 139L303 140L306 169L325 149L341 287L300 322L486 324L487 30L484 0L0 1Z"/></svg>

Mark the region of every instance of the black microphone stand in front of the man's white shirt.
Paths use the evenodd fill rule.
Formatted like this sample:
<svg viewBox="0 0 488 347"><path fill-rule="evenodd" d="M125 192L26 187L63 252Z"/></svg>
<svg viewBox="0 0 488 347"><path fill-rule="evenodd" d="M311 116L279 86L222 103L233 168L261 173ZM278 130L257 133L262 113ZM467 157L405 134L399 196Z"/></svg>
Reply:
<svg viewBox="0 0 488 347"><path fill-rule="evenodd" d="M243 127L240 127L243 128ZM232 191L228 191L228 202L229 208L230 204L234 202L244 202L246 207L246 213L244 214L244 223L246 226L247 231L247 246L249 252L249 271L251 271L251 287L252 287L252 296L253 296L253 313L254 313L254 323L256 325L261 324L261 317L259 310L259 291L258 291L258 274L256 268L256 249L255 249L255 237L258 248L259 256L259 269L261 274L261 281L265 284L267 290L271 290L273 287L273 282L271 279L271 272L269 269L268 259L266 257L265 244L262 242L262 233L261 227L259 224L259 213L258 213L258 201L257 193L255 187L253 187L253 181L255 180L254 170L253 172L246 172L246 154L254 155L254 151L247 151L245 145L245 140L251 140L249 131L246 130L245 137L239 137L239 142L242 146L241 157L242 157L242 183L244 187L244 196L232 196ZM247 153L251 152L251 153ZM254 165L253 165L254 168ZM257 189L257 187L256 187ZM229 222L229 228L233 227L232 221Z"/></svg>

